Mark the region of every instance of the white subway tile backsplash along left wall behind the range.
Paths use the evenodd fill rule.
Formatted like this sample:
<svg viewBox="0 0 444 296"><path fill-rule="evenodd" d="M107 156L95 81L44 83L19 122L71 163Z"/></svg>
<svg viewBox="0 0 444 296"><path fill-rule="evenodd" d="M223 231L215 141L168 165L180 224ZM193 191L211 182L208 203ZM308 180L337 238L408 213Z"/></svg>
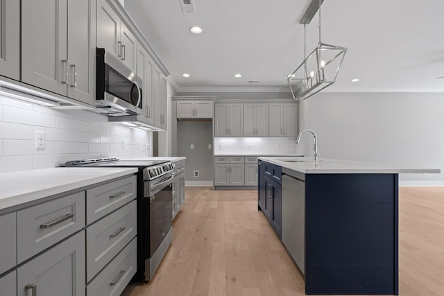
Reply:
<svg viewBox="0 0 444 296"><path fill-rule="evenodd" d="M35 149L35 131L45 149ZM121 148L120 141L124 145ZM86 110L53 110L0 96L0 173L49 168L74 159L148 157L151 132L108 123Z"/></svg>

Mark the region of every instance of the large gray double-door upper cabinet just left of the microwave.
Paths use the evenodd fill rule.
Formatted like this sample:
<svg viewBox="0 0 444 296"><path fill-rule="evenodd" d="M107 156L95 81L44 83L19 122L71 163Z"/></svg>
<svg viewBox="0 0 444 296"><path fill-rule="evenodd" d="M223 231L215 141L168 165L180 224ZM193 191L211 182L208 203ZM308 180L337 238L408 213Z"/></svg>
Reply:
<svg viewBox="0 0 444 296"><path fill-rule="evenodd" d="M22 1L22 81L95 102L95 1Z"/></svg>

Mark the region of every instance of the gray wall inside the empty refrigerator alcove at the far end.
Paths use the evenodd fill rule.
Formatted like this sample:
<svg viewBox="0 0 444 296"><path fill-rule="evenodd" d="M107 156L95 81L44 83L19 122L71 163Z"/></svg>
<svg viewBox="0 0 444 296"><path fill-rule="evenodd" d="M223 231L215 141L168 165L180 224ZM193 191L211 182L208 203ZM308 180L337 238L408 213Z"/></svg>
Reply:
<svg viewBox="0 0 444 296"><path fill-rule="evenodd" d="M213 180L213 146L208 149L208 144L213 144L212 128L212 121L177 122L177 154L187 157L186 181ZM194 177L194 171L199 171L199 177Z"/></svg>

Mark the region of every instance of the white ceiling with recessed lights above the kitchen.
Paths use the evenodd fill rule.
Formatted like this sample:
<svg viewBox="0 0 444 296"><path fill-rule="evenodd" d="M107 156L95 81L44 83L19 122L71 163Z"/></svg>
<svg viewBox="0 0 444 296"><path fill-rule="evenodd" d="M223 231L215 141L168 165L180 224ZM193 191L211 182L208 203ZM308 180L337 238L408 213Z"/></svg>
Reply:
<svg viewBox="0 0 444 296"><path fill-rule="evenodd" d="M178 91L288 90L287 75L303 60L299 21L309 0L193 0L196 13L182 12L180 1L125 1ZM322 41L348 47L324 92L444 92L443 0L325 0L321 12ZM193 25L203 33L191 34ZM317 42L316 15L307 52Z"/></svg>

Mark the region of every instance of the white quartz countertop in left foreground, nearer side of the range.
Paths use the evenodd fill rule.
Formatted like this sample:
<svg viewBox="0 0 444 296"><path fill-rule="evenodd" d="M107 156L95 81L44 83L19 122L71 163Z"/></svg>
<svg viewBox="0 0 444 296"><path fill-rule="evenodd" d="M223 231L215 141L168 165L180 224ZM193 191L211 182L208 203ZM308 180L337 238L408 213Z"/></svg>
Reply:
<svg viewBox="0 0 444 296"><path fill-rule="evenodd" d="M137 168L42 168L0 174L0 211L137 173Z"/></svg>

